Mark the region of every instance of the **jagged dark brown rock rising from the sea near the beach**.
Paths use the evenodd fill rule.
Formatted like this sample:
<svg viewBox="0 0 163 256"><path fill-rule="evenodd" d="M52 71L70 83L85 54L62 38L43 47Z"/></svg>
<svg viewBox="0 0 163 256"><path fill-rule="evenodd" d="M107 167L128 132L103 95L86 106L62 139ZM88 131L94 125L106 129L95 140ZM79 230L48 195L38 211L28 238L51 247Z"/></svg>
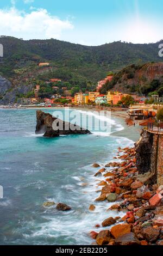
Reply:
<svg viewBox="0 0 163 256"><path fill-rule="evenodd" d="M89 130L79 127L71 123L67 123L58 118L53 117L49 113L42 111L36 112L37 124L36 134L42 134L44 137L58 137L60 135L73 134L91 134Z"/></svg>

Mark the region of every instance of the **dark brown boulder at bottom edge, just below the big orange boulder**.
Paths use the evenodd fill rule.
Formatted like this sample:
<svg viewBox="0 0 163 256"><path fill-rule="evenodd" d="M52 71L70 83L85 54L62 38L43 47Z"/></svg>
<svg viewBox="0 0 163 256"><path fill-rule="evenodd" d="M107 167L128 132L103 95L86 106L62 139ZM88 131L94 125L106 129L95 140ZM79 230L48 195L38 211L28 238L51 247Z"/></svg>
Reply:
<svg viewBox="0 0 163 256"><path fill-rule="evenodd" d="M133 232L123 234L115 239L115 245L139 245L139 240Z"/></svg>

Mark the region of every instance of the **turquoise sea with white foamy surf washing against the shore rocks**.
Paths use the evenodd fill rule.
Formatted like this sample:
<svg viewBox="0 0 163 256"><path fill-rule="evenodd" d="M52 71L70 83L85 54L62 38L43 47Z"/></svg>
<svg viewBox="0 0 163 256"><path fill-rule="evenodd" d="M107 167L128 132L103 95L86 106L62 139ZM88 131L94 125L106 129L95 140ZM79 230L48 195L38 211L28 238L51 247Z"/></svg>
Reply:
<svg viewBox="0 0 163 256"><path fill-rule="evenodd" d="M55 111L45 109L54 115ZM123 130L118 119L106 121L111 132ZM117 148L133 141L95 131L94 126L92 135L44 138L35 135L35 125L36 109L0 109L0 244L89 245L89 231L113 214L106 212L109 203L94 202L102 178L93 175L98 169L91 165L113 161ZM66 203L72 210L43 208L48 200ZM90 204L95 204L95 211L89 211Z"/></svg>

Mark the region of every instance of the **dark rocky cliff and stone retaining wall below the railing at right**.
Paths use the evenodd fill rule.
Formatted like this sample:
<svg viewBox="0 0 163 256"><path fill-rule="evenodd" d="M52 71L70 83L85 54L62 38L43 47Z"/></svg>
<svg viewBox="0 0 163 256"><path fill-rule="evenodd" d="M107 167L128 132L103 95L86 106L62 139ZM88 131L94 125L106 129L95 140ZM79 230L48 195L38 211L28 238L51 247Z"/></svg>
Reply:
<svg viewBox="0 0 163 256"><path fill-rule="evenodd" d="M140 174L146 174L149 182L163 185L163 135L142 130L140 140L135 143L136 166Z"/></svg>

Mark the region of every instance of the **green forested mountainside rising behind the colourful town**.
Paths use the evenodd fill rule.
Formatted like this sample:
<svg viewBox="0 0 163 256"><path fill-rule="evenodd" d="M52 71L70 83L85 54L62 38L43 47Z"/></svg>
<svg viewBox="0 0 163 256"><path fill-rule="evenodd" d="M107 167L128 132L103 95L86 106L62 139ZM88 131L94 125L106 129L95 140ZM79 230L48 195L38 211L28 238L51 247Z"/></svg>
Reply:
<svg viewBox="0 0 163 256"><path fill-rule="evenodd" d="M80 89L83 92L95 90L97 81L110 71L117 73L131 64L142 66L147 62L161 62L162 58L158 56L160 43L130 44L118 41L101 46L83 46L55 39L24 41L1 36L4 57L0 58L0 75L12 85L2 93L0 84L0 103L28 96L36 83L43 83L49 78L60 78L62 86L72 90L72 94ZM49 62L50 66L40 68L40 62ZM114 86L116 83L109 85ZM46 89L43 93L47 93Z"/></svg>

